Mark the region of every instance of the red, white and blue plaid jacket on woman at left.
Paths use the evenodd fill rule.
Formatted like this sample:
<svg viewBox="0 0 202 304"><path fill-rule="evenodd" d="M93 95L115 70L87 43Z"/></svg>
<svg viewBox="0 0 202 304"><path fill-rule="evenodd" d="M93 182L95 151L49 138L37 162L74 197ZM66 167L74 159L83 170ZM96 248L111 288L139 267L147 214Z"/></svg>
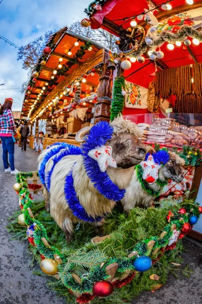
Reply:
<svg viewBox="0 0 202 304"><path fill-rule="evenodd" d="M0 115L0 134L13 134L16 132L15 121L11 110L4 110Z"/></svg>

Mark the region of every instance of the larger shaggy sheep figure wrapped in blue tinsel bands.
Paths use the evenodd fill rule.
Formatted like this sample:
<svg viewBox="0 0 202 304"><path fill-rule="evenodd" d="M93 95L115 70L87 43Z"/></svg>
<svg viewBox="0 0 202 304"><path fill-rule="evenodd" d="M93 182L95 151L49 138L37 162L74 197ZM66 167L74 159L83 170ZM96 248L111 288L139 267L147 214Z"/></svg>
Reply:
<svg viewBox="0 0 202 304"><path fill-rule="evenodd" d="M38 169L46 207L49 200L68 242L76 222L93 222L96 233L102 233L104 217L124 197L134 166L145 158L141 135L134 123L119 117L80 130L76 140L81 148L57 143L41 153Z"/></svg>

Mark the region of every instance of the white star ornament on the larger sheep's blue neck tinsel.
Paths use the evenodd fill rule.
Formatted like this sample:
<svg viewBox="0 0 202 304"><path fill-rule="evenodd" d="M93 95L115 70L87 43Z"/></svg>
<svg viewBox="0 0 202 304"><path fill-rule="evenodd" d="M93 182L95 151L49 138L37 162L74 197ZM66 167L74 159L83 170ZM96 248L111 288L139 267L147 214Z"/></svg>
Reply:
<svg viewBox="0 0 202 304"><path fill-rule="evenodd" d="M117 163L112 157L112 147L96 147L88 152L88 156L97 161L100 171L105 172L107 167L117 168Z"/></svg>

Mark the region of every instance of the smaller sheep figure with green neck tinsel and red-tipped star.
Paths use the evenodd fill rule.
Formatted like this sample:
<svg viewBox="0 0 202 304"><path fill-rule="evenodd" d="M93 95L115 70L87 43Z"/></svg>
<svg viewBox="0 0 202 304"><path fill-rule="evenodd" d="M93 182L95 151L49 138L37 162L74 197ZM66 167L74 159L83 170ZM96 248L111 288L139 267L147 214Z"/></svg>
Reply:
<svg viewBox="0 0 202 304"><path fill-rule="evenodd" d="M136 166L126 195L121 200L124 210L151 206L169 179L177 183L183 180L183 165L184 160L170 151L147 154L145 160Z"/></svg>

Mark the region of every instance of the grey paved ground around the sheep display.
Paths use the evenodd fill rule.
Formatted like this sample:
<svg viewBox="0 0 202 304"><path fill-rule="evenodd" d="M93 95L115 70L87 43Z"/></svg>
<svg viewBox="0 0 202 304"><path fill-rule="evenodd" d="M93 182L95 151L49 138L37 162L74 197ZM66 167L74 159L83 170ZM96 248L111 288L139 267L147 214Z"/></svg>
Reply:
<svg viewBox="0 0 202 304"><path fill-rule="evenodd" d="M28 147L21 151L16 146L15 165L20 171L36 170L37 155ZM15 177L4 173L2 146L0 145L0 303L1 304L62 304L46 287L46 278L32 274L28 268L27 243L10 241L6 225L7 218L19 208L18 198L13 190ZM194 273L190 279L170 276L169 281L155 293L143 292L133 304L201 304L202 269L197 266L202 253L202 244L185 239L187 252L183 254L184 265L189 264ZM102 303L102 301L100 301ZM116 303L115 303L116 304ZM124 304L124 302L123 302Z"/></svg>

